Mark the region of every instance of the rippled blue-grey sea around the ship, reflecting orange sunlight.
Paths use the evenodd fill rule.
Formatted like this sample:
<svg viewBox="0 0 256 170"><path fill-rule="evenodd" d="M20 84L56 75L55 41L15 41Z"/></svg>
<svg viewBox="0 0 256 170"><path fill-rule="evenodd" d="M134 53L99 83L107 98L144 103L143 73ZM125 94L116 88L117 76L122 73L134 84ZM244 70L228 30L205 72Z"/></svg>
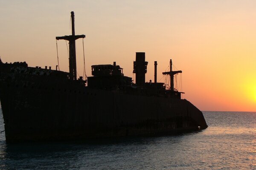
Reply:
<svg viewBox="0 0 256 170"><path fill-rule="evenodd" d="M0 169L256 170L256 112L203 114L207 129L168 136L6 144L2 132Z"/></svg>

